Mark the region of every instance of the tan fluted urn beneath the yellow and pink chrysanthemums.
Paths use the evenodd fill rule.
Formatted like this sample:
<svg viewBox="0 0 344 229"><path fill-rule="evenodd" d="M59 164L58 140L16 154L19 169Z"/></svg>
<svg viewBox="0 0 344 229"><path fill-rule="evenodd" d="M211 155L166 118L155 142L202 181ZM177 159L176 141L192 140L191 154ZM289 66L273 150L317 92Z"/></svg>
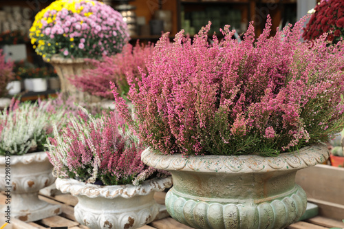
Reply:
<svg viewBox="0 0 344 229"><path fill-rule="evenodd" d="M84 69L89 69L91 66L84 58L62 58L60 56L52 56L50 63L54 66L58 78L61 83L61 93L64 98L68 96L75 96L76 100L89 100L89 102L99 102L100 98L91 96L87 92L80 91L72 83L69 78L80 76Z"/></svg>

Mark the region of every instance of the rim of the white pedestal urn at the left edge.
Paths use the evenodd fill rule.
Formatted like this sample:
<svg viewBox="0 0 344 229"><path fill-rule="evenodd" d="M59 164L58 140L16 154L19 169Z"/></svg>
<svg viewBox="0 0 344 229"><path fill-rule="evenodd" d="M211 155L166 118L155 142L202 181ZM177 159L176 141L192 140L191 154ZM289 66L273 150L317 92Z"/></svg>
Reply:
<svg viewBox="0 0 344 229"><path fill-rule="evenodd" d="M24 155L11 155L11 165L19 163L31 164L33 162L43 162L45 160L49 160L45 151L26 153ZM0 156L0 165L1 164L6 164L5 156Z"/></svg>

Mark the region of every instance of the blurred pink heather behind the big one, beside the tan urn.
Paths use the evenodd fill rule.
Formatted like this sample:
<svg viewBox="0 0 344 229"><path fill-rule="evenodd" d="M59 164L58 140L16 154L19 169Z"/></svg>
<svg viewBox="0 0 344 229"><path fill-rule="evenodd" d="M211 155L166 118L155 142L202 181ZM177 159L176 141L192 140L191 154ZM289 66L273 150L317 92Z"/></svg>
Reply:
<svg viewBox="0 0 344 229"><path fill-rule="evenodd" d="M144 60L152 53L151 44L144 46L136 43L134 47L127 44L121 53L114 56L105 56L102 61L89 60L94 68L83 70L80 76L69 78L69 81L83 91L108 99L114 98L109 85L112 81L116 84L119 94L127 95L127 74L140 79L142 72L147 73Z"/></svg>

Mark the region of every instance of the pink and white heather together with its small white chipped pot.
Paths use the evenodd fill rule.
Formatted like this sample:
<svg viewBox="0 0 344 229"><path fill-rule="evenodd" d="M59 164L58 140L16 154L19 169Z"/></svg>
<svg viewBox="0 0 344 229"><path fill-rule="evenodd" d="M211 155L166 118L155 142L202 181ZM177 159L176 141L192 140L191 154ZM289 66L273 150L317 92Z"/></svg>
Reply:
<svg viewBox="0 0 344 229"><path fill-rule="evenodd" d="M167 173L144 165L144 145L114 111L82 109L49 138L56 188L78 197L74 216L92 229L139 228L155 219L154 191L172 185Z"/></svg>

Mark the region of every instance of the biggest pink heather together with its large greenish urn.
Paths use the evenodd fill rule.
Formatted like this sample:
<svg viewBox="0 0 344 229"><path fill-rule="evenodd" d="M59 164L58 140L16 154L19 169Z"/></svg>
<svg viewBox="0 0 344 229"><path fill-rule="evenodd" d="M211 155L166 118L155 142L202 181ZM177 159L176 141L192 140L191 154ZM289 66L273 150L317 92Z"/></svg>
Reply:
<svg viewBox="0 0 344 229"><path fill-rule="evenodd" d="M164 39L148 74L130 83L135 120L114 88L116 107L140 140L149 166L170 171L169 214L193 228L284 228L305 211L296 172L325 161L326 142L344 125L343 43L301 43L302 19L240 43L227 25L208 43L210 23L193 41ZM130 82L130 78L129 78ZM114 87L114 86L113 86Z"/></svg>

